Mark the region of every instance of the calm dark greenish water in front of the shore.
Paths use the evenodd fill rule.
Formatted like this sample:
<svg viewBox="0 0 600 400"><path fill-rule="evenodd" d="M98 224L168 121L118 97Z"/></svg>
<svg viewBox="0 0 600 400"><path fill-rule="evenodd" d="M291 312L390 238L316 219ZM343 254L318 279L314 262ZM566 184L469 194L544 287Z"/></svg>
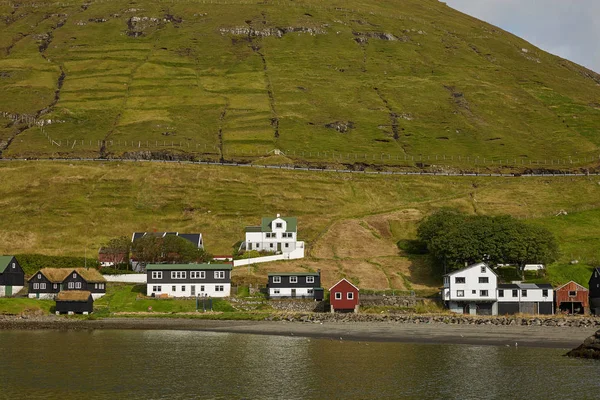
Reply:
<svg viewBox="0 0 600 400"><path fill-rule="evenodd" d="M592 399L565 350L183 331L1 331L6 399Z"/></svg>

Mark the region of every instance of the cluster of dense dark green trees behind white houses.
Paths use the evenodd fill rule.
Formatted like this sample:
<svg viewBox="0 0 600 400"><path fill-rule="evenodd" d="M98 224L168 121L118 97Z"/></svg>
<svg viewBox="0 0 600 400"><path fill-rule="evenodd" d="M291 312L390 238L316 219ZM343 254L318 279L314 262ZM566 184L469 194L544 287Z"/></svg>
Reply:
<svg viewBox="0 0 600 400"><path fill-rule="evenodd" d="M419 240L447 270L485 261L491 265L549 264L558 244L547 229L511 216L469 216L441 210L418 227Z"/></svg>

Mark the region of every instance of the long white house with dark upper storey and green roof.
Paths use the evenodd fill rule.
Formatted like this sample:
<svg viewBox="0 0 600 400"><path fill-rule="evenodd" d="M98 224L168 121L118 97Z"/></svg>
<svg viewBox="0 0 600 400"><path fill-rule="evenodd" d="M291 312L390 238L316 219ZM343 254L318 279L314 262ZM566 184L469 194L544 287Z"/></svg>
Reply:
<svg viewBox="0 0 600 400"><path fill-rule="evenodd" d="M148 264L148 296L228 297L231 264Z"/></svg>

